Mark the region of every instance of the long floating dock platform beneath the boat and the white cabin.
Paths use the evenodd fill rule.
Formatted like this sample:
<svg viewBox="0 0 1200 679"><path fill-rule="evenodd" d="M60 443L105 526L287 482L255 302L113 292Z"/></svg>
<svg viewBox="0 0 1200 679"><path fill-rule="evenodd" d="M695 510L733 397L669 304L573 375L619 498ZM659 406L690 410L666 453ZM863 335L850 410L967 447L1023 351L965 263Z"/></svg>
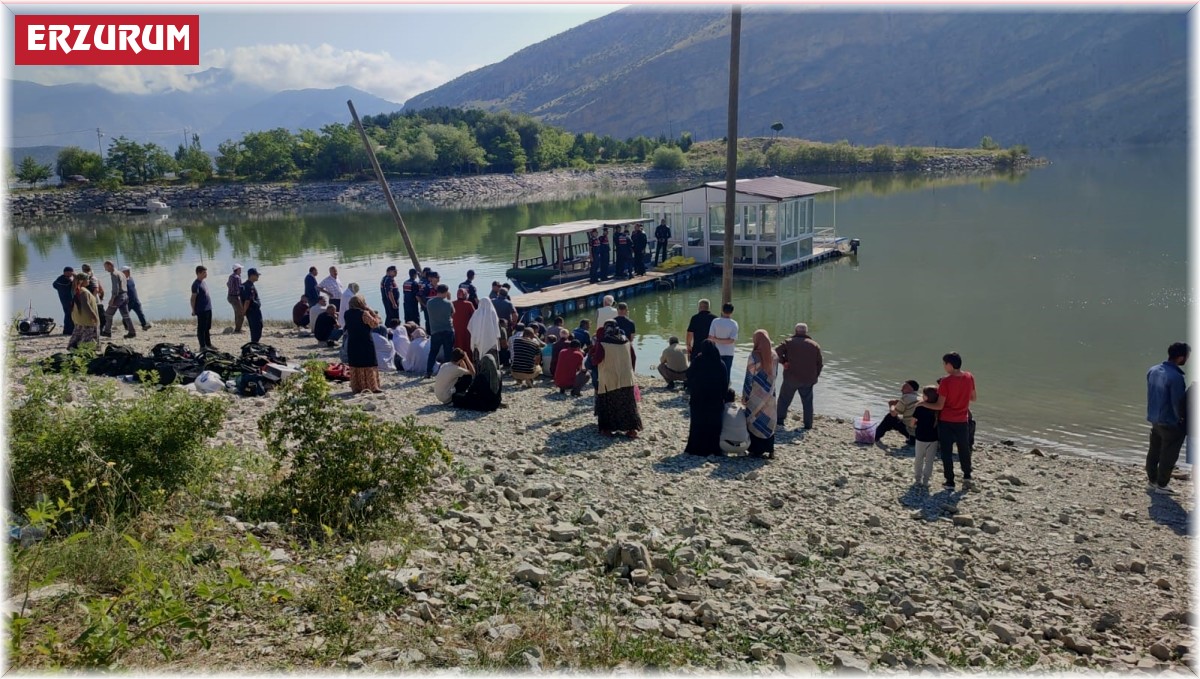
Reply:
<svg viewBox="0 0 1200 679"><path fill-rule="evenodd" d="M845 239L839 239L839 241L841 240ZM840 245L842 244L834 244L833 247L818 247L809 257L781 269L755 271L749 269L742 270L734 266L733 271L736 275L750 276L791 274L841 257L844 252L839 247ZM643 293L671 290L679 287L704 283L719 274L720 265L698 263L661 271L647 270L644 275L635 276L631 280L610 278L599 283L575 281L515 296L512 298L512 306L516 307L518 316L524 316L527 311L534 311L535 316L540 316L541 318L553 318L577 311L598 308L604 301L605 295L612 295L613 299L620 301Z"/></svg>

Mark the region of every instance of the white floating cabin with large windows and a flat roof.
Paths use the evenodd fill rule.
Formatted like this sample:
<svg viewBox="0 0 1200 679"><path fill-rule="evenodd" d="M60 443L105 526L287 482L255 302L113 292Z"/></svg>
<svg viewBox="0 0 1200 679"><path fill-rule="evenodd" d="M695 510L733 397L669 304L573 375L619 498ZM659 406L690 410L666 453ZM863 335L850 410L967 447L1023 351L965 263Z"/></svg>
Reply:
<svg viewBox="0 0 1200 679"><path fill-rule="evenodd" d="M817 216L817 196L834 186L781 176L737 180L733 269L750 274L785 274L848 250L838 238L836 200L829 215ZM684 257L714 265L725 262L725 182L709 181L640 199L642 217L654 226L666 220L671 246ZM824 212L824 210L822 210ZM648 227L653 233L654 226Z"/></svg>

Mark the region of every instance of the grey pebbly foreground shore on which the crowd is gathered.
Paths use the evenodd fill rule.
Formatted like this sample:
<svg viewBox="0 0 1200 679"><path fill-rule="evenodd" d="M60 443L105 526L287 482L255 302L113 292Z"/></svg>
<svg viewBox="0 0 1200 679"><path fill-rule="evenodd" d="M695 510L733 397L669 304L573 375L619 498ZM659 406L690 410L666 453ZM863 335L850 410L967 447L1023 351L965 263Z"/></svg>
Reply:
<svg viewBox="0 0 1200 679"><path fill-rule="evenodd" d="M293 360L334 359L281 328L269 326L264 342ZM245 336L214 340L235 351ZM194 334L162 323L130 344L145 351L157 342L194 344ZM65 344L19 338L14 351L37 359ZM1154 495L1136 465L982 441L970 492L924 492L899 439L858 446L848 422L821 416L808 432L790 421L773 461L698 458L682 452L683 395L637 379L647 425L637 440L599 435L588 392L571 398L505 379L506 407L480 414L442 407L431 383L410 375L383 375L380 395L335 386L347 405L440 427L456 469L410 507L420 547L371 576L409 602L365 623L370 633L337 666L515 657L527 669L564 669L542 667L562 657L551 645L582 643L589 615L604 611L629 639L665 639L702 659L673 669L1188 671L1186 475L1172 483L1178 495ZM272 399L241 399L215 443L262 450L254 421ZM346 567L397 548L378 541L318 564L278 527L246 523L228 503L214 511L224 530L271 548L272 567ZM319 587L312 579L289 587ZM502 607L497 593L511 602ZM283 630L236 620L211 654L182 666L305 666L324 643L319 620L299 608L286 614ZM268 650L250 662L236 648Z"/></svg>

